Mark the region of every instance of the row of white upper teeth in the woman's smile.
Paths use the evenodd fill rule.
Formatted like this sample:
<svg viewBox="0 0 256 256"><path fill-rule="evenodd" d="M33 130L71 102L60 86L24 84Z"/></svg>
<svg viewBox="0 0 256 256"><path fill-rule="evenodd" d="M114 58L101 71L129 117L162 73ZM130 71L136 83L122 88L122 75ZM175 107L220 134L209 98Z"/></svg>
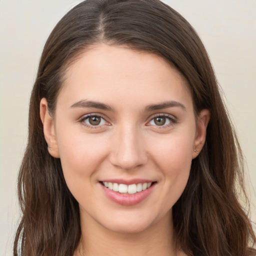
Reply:
<svg viewBox="0 0 256 256"><path fill-rule="evenodd" d="M152 184L152 182L130 184L130 185L118 184L118 183L112 183L112 182L103 182L103 185L105 187L108 187L108 189L111 189L111 190L119 192L119 193L128 193L128 194L134 194L136 192L145 190L151 184Z"/></svg>

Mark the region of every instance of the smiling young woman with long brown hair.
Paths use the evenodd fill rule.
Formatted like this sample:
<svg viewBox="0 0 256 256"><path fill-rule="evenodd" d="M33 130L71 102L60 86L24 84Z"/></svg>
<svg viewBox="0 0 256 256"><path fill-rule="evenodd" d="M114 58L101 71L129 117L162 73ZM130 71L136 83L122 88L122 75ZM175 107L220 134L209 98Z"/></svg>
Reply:
<svg viewBox="0 0 256 256"><path fill-rule="evenodd" d="M83 1L41 55L14 255L254 255L242 169L189 23L157 0Z"/></svg>

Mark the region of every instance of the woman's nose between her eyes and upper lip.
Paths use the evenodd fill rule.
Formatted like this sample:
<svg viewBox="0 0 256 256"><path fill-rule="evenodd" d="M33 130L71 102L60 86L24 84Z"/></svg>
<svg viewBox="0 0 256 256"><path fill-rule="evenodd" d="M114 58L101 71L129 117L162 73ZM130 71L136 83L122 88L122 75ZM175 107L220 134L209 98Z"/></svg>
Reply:
<svg viewBox="0 0 256 256"><path fill-rule="evenodd" d="M113 134L110 162L125 170L147 162L147 152L141 132L135 127L117 129Z"/></svg>

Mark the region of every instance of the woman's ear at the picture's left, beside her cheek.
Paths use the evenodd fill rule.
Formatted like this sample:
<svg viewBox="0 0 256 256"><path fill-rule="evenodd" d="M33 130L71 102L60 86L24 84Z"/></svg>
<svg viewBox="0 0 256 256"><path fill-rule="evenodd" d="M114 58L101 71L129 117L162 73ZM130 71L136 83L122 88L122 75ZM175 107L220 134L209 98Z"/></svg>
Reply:
<svg viewBox="0 0 256 256"><path fill-rule="evenodd" d="M44 137L48 145L48 152L51 156L59 158L54 121L48 112L46 98L42 98L40 101L40 118L43 125Z"/></svg>

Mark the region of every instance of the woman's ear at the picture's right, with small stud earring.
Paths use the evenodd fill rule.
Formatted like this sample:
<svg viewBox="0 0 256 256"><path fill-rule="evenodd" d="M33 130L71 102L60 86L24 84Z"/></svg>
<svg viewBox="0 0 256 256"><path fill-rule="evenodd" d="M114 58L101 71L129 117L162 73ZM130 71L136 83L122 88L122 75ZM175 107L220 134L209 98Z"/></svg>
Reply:
<svg viewBox="0 0 256 256"><path fill-rule="evenodd" d="M210 119L210 112L208 109L202 109L196 121L196 133L194 138L194 148L192 152L192 158L195 158L201 151L205 138L206 138L206 128Z"/></svg>

